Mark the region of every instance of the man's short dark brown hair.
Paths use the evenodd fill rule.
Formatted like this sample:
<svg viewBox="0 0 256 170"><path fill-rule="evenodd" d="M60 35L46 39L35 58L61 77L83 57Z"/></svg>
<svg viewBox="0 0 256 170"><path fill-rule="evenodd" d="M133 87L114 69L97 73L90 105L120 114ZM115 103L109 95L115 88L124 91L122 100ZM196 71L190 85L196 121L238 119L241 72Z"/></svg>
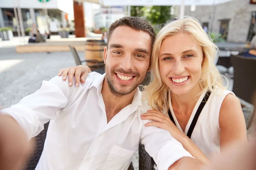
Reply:
<svg viewBox="0 0 256 170"><path fill-rule="evenodd" d="M108 31L107 47L108 47L108 42L110 40L110 37L111 37L113 31L119 26L128 26L137 31L147 32L151 37L151 49L152 49L153 43L154 43L154 40L156 37L156 33L154 31L154 28L152 28L152 26L148 23L148 21L146 21L140 17L123 17L119 20L116 20L114 23L112 23L111 26L109 27L109 31Z"/></svg>

